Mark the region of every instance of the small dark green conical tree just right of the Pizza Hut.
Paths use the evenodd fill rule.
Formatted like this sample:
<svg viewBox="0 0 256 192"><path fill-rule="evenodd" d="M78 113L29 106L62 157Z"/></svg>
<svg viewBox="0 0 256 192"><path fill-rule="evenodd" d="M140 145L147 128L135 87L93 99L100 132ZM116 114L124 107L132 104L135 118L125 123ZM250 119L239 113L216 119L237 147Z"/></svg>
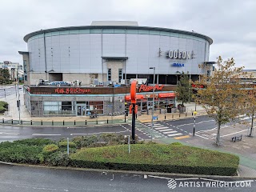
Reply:
<svg viewBox="0 0 256 192"><path fill-rule="evenodd" d="M190 78L188 74L184 74L182 72L181 78L178 81L178 86L176 88L177 100L178 102L182 102L182 106L184 106L184 102L190 102L192 98L192 86L190 83Z"/></svg>

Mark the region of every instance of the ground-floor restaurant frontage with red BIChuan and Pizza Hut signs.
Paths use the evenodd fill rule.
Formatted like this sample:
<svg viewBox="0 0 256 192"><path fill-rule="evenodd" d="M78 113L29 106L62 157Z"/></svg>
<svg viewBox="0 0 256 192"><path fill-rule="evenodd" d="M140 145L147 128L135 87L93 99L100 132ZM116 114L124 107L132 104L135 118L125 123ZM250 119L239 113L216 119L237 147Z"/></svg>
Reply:
<svg viewBox="0 0 256 192"><path fill-rule="evenodd" d="M174 86L139 86L138 110L175 106ZM27 86L25 104L32 117L121 115L130 104L130 86L56 87Z"/></svg>

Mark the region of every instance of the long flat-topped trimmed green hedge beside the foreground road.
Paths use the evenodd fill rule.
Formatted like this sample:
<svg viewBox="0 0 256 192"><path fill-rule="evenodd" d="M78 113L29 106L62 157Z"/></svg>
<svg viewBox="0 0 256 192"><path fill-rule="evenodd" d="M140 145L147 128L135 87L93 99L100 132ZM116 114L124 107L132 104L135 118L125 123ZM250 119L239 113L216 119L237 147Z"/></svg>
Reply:
<svg viewBox="0 0 256 192"><path fill-rule="evenodd" d="M138 170L179 174L235 175L239 158L233 154L191 146L132 145L79 150L70 155L70 166L111 170Z"/></svg>

